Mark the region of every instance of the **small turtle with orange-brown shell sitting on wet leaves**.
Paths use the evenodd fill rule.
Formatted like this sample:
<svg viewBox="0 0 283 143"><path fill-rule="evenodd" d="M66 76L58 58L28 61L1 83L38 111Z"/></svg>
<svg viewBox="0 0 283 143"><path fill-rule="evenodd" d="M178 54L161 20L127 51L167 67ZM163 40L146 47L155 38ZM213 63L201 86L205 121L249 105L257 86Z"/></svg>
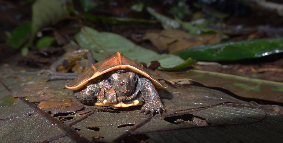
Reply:
<svg viewBox="0 0 283 143"><path fill-rule="evenodd" d="M140 113L165 111L156 88L167 85L160 82L140 63L120 52L106 58L66 84L75 91L82 103L98 106L130 107L144 105Z"/></svg>

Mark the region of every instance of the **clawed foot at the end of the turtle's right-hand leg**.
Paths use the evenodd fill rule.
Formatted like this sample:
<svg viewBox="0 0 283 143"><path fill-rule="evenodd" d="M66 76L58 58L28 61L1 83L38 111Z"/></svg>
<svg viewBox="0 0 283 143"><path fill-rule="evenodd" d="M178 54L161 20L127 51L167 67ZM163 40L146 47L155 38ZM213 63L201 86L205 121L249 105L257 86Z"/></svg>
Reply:
<svg viewBox="0 0 283 143"><path fill-rule="evenodd" d="M140 113L144 112L146 115L148 112L153 116L154 112L157 112L161 116L161 110L165 111L165 108L160 100L154 103L145 103L140 110Z"/></svg>

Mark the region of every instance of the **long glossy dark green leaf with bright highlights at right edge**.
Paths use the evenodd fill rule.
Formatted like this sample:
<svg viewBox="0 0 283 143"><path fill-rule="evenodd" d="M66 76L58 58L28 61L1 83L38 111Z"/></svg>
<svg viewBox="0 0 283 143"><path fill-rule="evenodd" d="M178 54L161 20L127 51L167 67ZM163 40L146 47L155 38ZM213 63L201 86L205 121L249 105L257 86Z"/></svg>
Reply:
<svg viewBox="0 0 283 143"><path fill-rule="evenodd" d="M254 39L189 47L175 54L199 61L231 61L283 52L283 38Z"/></svg>

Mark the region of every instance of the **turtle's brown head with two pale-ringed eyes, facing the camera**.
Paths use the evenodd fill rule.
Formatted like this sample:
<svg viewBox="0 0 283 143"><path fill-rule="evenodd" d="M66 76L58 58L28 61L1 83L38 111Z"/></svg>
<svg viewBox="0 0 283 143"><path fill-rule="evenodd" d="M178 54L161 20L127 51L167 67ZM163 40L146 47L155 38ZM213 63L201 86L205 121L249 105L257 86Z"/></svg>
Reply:
<svg viewBox="0 0 283 143"><path fill-rule="evenodd" d="M115 72L106 79L106 82L115 89L117 96L132 95L137 81L138 77L132 71Z"/></svg>

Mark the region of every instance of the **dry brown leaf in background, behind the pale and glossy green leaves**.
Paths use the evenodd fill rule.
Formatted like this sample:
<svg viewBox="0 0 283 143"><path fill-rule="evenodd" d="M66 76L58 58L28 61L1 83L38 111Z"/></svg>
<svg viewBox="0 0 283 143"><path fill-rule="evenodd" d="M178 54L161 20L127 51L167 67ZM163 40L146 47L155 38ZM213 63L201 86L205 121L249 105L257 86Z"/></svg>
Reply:
<svg viewBox="0 0 283 143"><path fill-rule="evenodd" d="M163 30L159 33L147 32L143 39L149 39L159 51L167 50L169 53L175 53L192 46L214 44L221 41L221 37L217 34L196 36L182 30Z"/></svg>

